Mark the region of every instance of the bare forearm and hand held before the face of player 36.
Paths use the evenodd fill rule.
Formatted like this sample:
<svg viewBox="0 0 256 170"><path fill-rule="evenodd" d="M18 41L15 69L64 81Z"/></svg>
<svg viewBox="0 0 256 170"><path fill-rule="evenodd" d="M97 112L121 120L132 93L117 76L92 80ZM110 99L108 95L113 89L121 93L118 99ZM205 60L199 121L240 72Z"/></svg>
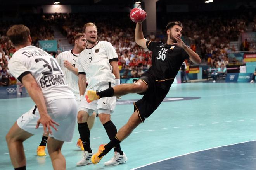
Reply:
<svg viewBox="0 0 256 170"><path fill-rule="evenodd" d="M189 59L190 61L192 61L195 64L200 64L201 63L201 58L199 57L199 55L197 53L195 53L195 51L193 51L192 49L190 49L183 41L182 39L180 39L180 37L178 36L173 36L174 39L176 39L177 43L174 43L177 46L180 46L181 48L184 49L184 51L186 51L186 53L189 55Z"/></svg>

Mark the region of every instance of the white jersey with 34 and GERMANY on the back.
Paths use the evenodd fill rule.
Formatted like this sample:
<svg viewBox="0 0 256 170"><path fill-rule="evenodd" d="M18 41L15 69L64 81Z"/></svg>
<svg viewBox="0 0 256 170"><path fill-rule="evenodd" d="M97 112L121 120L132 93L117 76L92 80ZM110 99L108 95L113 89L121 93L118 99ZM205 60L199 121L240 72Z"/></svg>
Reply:
<svg viewBox="0 0 256 170"><path fill-rule="evenodd" d="M57 61L40 48L26 46L19 49L10 59L8 68L19 81L23 76L31 74L46 101L74 98Z"/></svg>

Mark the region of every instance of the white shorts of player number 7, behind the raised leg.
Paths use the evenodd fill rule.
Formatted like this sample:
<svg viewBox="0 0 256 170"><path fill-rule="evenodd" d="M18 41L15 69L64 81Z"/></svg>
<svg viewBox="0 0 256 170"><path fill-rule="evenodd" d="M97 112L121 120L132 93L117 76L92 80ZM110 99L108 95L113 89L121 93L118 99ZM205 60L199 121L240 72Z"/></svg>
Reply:
<svg viewBox="0 0 256 170"><path fill-rule="evenodd" d="M98 90L103 91L107 88L114 87L114 84L110 84L109 82L100 82L92 89L86 89L85 94L87 94L88 90ZM98 114L105 113L111 114L114 112L114 108L116 107L116 96L114 97L103 97L99 100L95 100L93 102L88 103L85 99L85 96L82 98L80 105L78 106L78 111L85 111L90 116L92 115L93 111L97 112Z"/></svg>

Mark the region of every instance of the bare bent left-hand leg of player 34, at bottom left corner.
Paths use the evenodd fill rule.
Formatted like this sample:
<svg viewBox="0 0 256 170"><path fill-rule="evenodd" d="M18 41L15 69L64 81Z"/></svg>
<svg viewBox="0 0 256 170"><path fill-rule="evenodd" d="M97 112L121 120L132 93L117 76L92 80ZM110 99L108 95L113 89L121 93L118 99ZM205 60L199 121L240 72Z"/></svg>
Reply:
<svg viewBox="0 0 256 170"><path fill-rule="evenodd" d="M14 123L6 135L10 158L14 168L26 169L26 158L23 148L23 141L33 136L33 134L19 128L17 122ZM22 168L21 168L22 169Z"/></svg>

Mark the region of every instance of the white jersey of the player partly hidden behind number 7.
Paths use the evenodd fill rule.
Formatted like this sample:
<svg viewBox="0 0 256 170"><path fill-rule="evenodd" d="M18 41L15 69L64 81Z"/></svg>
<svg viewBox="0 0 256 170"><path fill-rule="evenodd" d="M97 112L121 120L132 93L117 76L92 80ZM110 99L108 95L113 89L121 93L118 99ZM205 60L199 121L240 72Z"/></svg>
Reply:
<svg viewBox="0 0 256 170"><path fill-rule="evenodd" d="M71 88L71 91L74 94L79 94L78 76L72 71L68 70L66 67L64 67L63 61L67 60L69 61L69 63L71 63L71 65L74 68L77 68L77 64L76 64L77 59L78 59L78 54L74 54L72 50L62 52L56 58L57 62L61 66L61 70L64 73L67 85Z"/></svg>

